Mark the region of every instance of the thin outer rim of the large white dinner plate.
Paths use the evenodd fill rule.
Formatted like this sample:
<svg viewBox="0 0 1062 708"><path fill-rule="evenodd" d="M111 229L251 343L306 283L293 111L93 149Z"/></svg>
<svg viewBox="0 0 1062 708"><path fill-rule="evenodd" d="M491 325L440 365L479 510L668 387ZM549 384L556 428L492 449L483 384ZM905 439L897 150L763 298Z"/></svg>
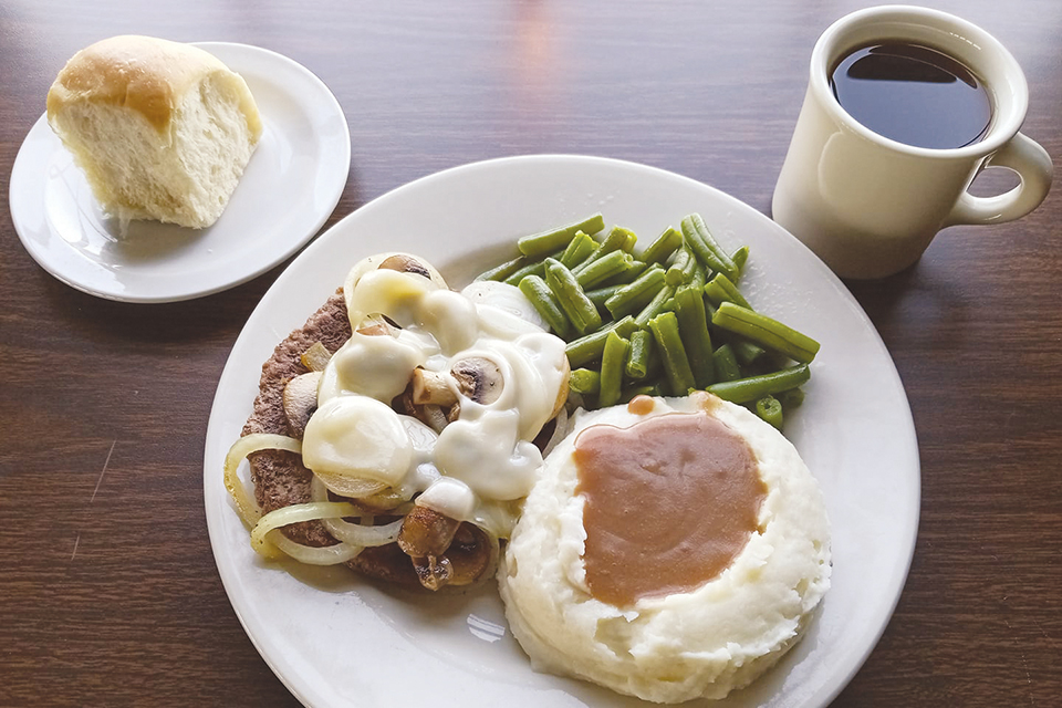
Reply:
<svg viewBox="0 0 1062 708"><path fill-rule="evenodd" d="M888 373L891 374L891 378L892 378L889 383L895 385L896 388L898 389L898 393L900 394L899 398L902 402L903 409L898 413L903 414L903 419L905 423L905 425L903 426L904 431L909 438L908 439L909 445L907 446L909 458L907 459L907 465L910 466L908 471L914 482L913 486L909 487L908 500L907 500L909 504L910 520L909 520L909 523L904 528L905 537L903 539L897 539L897 541L902 542L902 543L897 543L897 546L900 548L902 550L900 553L897 553L898 572L891 577L892 584L888 593L891 597L891 602L887 604L887 606L885 605L882 606L882 610L884 610L884 612L881 614L882 620L878 623L878 626L874 627L874 631L867 635L870 641L865 643L865 646L862 648L861 652L854 655L855 660L852 662L850 669L840 680L831 685L829 688L821 689L815 696L813 696L811 699L813 699L815 702L800 704L802 706L804 705L820 706L820 707L827 706L831 701L833 701L837 697L837 695L841 694L842 690L844 690L844 688L851 683L851 680L855 677L855 675L861 670L866 659L870 657L870 655L873 653L874 648L878 644L885 629L887 628L893 617L893 614L895 612L895 608L898 605L899 600L903 595L903 590L906 585L907 577L909 575L909 571L912 568L912 563L914 560L914 554L917 545L918 530L920 524L922 460L920 460L920 450L918 447L917 430L915 428L914 416L910 409L910 402L906 395L906 389L904 388L903 381L899 376L899 372L896 368L895 361L893 360L891 353L888 352L888 348L886 347L884 341L882 340L881 333L877 331L877 327L874 326L873 322L870 320L865 310L858 303L855 296L851 293L847 287L841 281L841 279L832 270L829 269L827 266L825 266L824 262L821 261L821 259L814 256L814 253L811 252L811 250L808 249L808 247L804 246L802 242L800 242L795 237L793 237L791 233L785 231L783 227L775 223L769 217L767 217L756 208L751 207L750 205L706 183L699 181L691 177L687 177L685 175L680 175L678 173L674 173L660 167L656 167L656 166L652 166L643 163L636 163L636 162L622 159L622 158L602 157L602 156L575 154L575 153L542 153L542 154L529 154L529 155L513 155L513 156L475 160L471 163L455 165L435 173L423 175L410 181L399 185L393 189L389 189L388 191L382 195L378 195L377 197L371 199L366 204L362 205L361 207L345 215L343 218L336 221L336 223L330 227L324 233L322 233L321 237L317 238L313 243L311 243L302 253L300 253L300 256L284 269L284 272L282 272L277 278L277 280L267 290L267 292L263 293L259 303L254 306L254 309L248 315L247 322L241 329L239 336L233 342L229 356L226 360L225 366L219 377L216 396L210 409L210 421L208 421L208 428L207 428L206 440L205 440L205 449L204 449L204 483L206 488L205 494L204 494L204 503L205 503L206 513L207 513L207 527L208 527L208 534L210 538L211 551L215 555L215 563L216 563L216 566L218 568L219 575L221 576L222 585L230 601L230 605L232 606L233 612L236 613L241 626L243 627L244 633L248 635L252 645L256 647L259 655L262 657L266 664L270 667L273 674L278 677L279 680L281 680L281 683L292 693L292 695L300 702L302 702L305 706L319 705L319 704L312 702L311 699L305 695L305 693L298 685L296 677L289 676L285 673L278 670L278 666L273 662L273 658L267 655L267 653L262 650L262 647L259 644L258 637L256 637L249 631L247 621L243 614L241 613L240 608L236 604L236 600L232 594L233 589L230 587L230 583L235 582L235 579L229 579L227 576L228 571L223 569L219 558L219 550L222 541L221 541L221 534L215 525L218 523L218 521L214 520L211 517L211 502L217 501L217 498L221 496L221 491L223 491L223 489L222 490L214 489L214 486L216 485L214 485L212 482L217 481L217 475L219 472L217 469L214 469L207 465L207 457L208 457L208 450L209 450L209 442L211 441L211 428L214 428L212 421L215 420L215 414L217 413L217 409L222 403L220 397L220 394L222 391L222 383L225 383L227 375L230 375L229 367L233 363L235 353L237 352L238 347L241 345L244 336L248 336L248 337L250 336L247 330L247 325L252 320L257 319L257 316L259 316L259 310L267 308L268 301L271 299L271 295L273 295L277 292L280 292L285 287L288 280L298 277L298 274L295 273L298 269L293 267L298 263L299 260L303 258L308 258L308 259L312 258L312 254L315 253L317 250L327 248L327 244L332 240L332 238L340 238L343 231L350 228L350 222L356 221L358 219L358 214L362 212L363 210L371 209L371 208L375 209L376 208L375 205L381 200L394 198L394 195L396 192L410 189L414 186L419 186L423 183L426 183L429 180L441 180L441 179L449 178L455 174L466 173L473 169L492 169L492 168L503 167L507 164L535 163L535 162L541 162L545 164L565 163L565 162L579 163L579 164L597 163L604 167L612 166L616 168L654 173L658 177L678 179L681 181L689 183L691 186L698 189L711 192L716 198L721 198L731 205L738 205L741 209L746 209L750 212L756 214L757 217L764 222L764 225L770 225L770 228L773 228L778 230L780 233L784 235L784 237L790 239L795 247L803 249L808 252L808 254L815 262L816 264L815 267L820 271L819 275L825 278L830 282L831 287L833 287L836 291L839 291L839 293L847 300L848 304L853 306L855 314L863 322L866 331L872 336L874 345L884 355L884 362L887 363ZM305 316L309 316L309 314L310 313L305 313ZM829 598L829 596L830 595L827 593L826 597ZM821 607L820 607L820 611L821 611ZM324 705L331 705L331 704L321 704L321 705L324 706Z"/></svg>

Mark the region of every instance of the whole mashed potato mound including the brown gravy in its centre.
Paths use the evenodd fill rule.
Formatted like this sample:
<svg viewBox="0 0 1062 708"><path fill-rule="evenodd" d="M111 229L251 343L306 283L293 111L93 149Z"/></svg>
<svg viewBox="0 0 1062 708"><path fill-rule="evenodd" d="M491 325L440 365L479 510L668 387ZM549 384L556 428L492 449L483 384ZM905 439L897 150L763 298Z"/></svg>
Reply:
<svg viewBox="0 0 1062 708"><path fill-rule="evenodd" d="M576 412L498 582L537 670L677 704L722 698L777 663L830 570L825 504L796 449L696 393Z"/></svg>

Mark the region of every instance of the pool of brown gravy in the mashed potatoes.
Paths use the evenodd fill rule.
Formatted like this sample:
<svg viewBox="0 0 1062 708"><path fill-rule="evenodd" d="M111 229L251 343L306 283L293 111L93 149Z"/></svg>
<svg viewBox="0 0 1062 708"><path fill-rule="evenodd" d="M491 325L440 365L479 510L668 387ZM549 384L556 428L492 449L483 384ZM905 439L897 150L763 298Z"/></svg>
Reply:
<svg viewBox="0 0 1062 708"><path fill-rule="evenodd" d="M586 583L602 602L625 606L699 587L758 529L767 486L756 457L707 413L592 426L575 439L574 459Z"/></svg>

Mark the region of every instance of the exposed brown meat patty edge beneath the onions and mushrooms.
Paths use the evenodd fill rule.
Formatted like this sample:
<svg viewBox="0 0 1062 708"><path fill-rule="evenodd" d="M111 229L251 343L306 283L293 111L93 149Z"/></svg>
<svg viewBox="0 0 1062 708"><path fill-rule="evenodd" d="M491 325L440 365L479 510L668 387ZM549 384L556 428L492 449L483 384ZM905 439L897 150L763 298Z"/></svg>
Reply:
<svg viewBox="0 0 1062 708"><path fill-rule="evenodd" d="M273 355L262 365L254 408L243 426L242 435L271 433L291 435L284 415L283 393L288 382L305 374L300 357L314 342L321 342L335 353L351 339L351 323L346 315L346 302L342 289L314 312L306 323L277 345ZM306 469L299 455L285 450L263 450L248 456L254 498L263 513L291 504L312 501L310 482L313 473ZM336 543L319 521L293 523L281 530L296 543L322 546ZM347 563L351 568L381 580L419 587L416 572L409 558L397 544L365 549Z"/></svg>

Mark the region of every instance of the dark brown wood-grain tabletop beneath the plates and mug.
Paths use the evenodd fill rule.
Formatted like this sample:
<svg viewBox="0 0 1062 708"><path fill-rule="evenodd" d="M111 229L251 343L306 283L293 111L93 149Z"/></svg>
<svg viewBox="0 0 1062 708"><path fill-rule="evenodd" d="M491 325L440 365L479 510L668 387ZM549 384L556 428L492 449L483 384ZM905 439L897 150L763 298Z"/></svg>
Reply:
<svg viewBox="0 0 1062 708"><path fill-rule="evenodd" d="M237 620L207 534L204 437L248 315L282 272L112 302L22 247L11 167L76 50L108 35L274 50L335 94L350 178L325 228L491 157L600 155L770 214L815 39L855 0L0 3L0 705L294 706ZM993 33L1062 156L1062 3L926 0ZM987 174L979 194L1008 186ZM892 354L922 459L918 540L835 707L1062 700L1062 189L846 283ZM858 402L853 402L858 405Z"/></svg>

